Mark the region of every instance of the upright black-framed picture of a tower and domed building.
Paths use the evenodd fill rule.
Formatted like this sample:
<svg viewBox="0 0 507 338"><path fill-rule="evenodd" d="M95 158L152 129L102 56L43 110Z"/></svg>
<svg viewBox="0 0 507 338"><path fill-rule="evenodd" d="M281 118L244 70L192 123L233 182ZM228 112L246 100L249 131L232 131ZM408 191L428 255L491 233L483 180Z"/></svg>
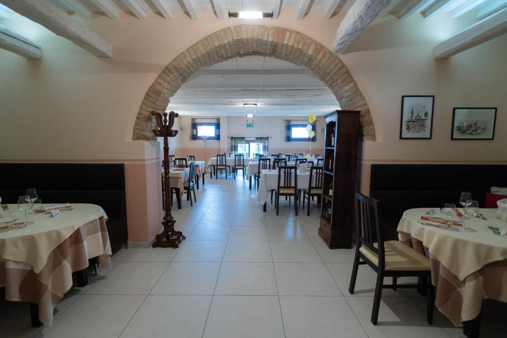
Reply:
<svg viewBox="0 0 507 338"><path fill-rule="evenodd" d="M400 139L430 139L434 95L403 95Z"/></svg>

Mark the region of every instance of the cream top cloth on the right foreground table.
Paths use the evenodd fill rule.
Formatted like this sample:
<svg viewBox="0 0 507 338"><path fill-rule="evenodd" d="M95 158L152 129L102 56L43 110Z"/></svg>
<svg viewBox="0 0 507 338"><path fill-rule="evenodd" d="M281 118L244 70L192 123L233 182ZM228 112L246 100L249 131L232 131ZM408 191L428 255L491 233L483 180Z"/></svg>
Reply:
<svg viewBox="0 0 507 338"><path fill-rule="evenodd" d="M405 241L410 237L420 240L429 249L429 253L460 281L490 262L507 259L507 238L496 236L487 228L488 224L507 228L507 223L497 218L496 209L480 209L486 220L472 218L471 228L477 231L475 233L450 231L418 223L428 222L421 220L421 215L429 209L409 209L403 213L397 228L400 240ZM436 210L437 217L449 218L440 214L439 208Z"/></svg>

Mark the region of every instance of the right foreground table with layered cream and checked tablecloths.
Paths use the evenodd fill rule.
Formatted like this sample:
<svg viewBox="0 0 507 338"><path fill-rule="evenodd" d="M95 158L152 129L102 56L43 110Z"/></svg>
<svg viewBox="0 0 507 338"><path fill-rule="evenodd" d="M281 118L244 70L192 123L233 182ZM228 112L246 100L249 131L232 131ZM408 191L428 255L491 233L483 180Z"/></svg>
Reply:
<svg viewBox="0 0 507 338"><path fill-rule="evenodd" d="M464 231L459 231L459 227L421 219L449 219L440 208L409 209L397 227L400 241L430 260L437 309L456 327L472 332L479 331L484 299L507 303L507 236L490 229L498 228L501 233L507 223L498 218L496 209L479 209L479 213L486 219L464 219ZM460 214L464 214L462 209Z"/></svg>

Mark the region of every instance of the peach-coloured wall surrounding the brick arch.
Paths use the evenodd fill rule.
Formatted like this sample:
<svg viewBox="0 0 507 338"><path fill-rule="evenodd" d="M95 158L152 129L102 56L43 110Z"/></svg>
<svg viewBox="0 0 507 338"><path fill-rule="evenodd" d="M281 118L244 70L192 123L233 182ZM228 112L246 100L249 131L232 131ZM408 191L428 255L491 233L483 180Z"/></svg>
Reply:
<svg viewBox="0 0 507 338"><path fill-rule="evenodd" d="M320 13L311 13L296 20L295 14L281 14L273 24L299 30L331 47L342 17L322 20ZM95 57L17 14L0 20L43 48L40 60L0 50L0 161L144 165L144 175L142 169L127 169L127 186L144 184L150 196L129 189L127 203L129 209L146 208L142 217L129 210L129 232L137 241L147 242L157 229L156 217L151 218L155 211L149 208L159 189L157 171L148 162L160 151L148 142L130 141L139 104L172 58L230 22L211 13L200 13L199 20L179 13L171 20L154 13L146 20L129 14L121 14L119 20L100 15L76 20L114 46L113 58ZM472 14L454 20L445 13L426 20L419 15L406 20L388 17L375 21L351 44L349 53L341 55L377 128L378 142L364 143L363 189L372 163L507 163L507 35L447 60L433 57L434 46L475 21ZM431 140L399 140L401 96L415 94L436 95ZM450 140L455 106L498 107L495 140ZM222 132L229 130L233 128L224 124ZM175 149L200 147L185 137L173 142ZM228 149L226 140L209 146L216 148L214 153Z"/></svg>

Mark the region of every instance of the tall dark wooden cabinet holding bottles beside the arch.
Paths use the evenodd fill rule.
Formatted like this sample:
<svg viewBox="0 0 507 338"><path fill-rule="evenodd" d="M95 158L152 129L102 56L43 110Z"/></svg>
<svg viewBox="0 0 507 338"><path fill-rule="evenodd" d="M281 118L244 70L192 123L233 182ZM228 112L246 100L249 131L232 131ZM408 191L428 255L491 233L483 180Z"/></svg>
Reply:
<svg viewBox="0 0 507 338"><path fill-rule="evenodd" d="M318 234L330 249L351 248L359 111L336 110L324 118L324 173Z"/></svg>

